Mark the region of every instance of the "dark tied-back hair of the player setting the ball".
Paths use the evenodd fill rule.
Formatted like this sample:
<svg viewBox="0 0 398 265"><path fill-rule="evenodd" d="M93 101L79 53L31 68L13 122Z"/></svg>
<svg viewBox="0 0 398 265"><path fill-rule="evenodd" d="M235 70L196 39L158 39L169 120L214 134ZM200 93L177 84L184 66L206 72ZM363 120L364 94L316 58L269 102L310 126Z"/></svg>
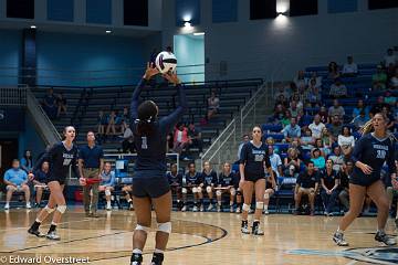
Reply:
<svg viewBox="0 0 398 265"><path fill-rule="evenodd" d="M135 120L137 124L137 132L139 136L149 136L153 134L153 123L157 116L157 106L151 100L143 102L138 106L138 118Z"/></svg>

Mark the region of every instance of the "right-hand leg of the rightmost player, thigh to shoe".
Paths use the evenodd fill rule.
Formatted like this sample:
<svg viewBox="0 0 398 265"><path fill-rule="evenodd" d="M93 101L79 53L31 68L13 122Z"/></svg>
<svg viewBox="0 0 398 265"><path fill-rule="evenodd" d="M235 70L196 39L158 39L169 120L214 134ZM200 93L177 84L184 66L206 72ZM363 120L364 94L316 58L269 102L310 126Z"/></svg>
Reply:
<svg viewBox="0 0 398 265"><path fill-rule="evenodd" d="M367 189L367 194L376 203L377 206L377 233L376 241L383 242L386 245L397 244L394 237L386 234L385 227L388 220L388 197L381 180L376 181Z"/></svg>

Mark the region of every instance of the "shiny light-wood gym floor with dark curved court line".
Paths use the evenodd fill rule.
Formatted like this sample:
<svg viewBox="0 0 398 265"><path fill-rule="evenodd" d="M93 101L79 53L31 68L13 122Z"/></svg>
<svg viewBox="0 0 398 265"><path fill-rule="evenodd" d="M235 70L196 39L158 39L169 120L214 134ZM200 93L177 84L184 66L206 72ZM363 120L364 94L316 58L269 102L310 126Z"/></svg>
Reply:
<svg viewBox="0 0 398 265"><path fill-rule="evenodd" d="M36 211L0 211L0 264L25 264L15 263L15 258L21 257L35 257L32 264L38 261L49 264L49 258L55 257L88 258L88 264L95 265L129 263L136 224L134 212L101 212L100 219L86 219L81 206L69 209L59 225L62 239L52 242L27 233ZM335 246L331 236L338 220L271 214L262 220L265 235L253 236L240 233L240 215L235 213L174 212L172 234L164 264L398 263L397 247L379 247L374 241L375 218L357 219L346 233L350 246ZM48 227L45 223L41 231L46 232ZM387 232L396 234L394 227L390 219ZM154 231L148 236L144 264L150 262Z"/></svg>

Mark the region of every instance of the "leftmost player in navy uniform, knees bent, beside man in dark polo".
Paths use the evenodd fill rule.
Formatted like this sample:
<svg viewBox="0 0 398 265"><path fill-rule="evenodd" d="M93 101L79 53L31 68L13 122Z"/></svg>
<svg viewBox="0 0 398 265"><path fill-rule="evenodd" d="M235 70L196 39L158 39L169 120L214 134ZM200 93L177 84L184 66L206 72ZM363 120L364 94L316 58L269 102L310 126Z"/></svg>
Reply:
<svg viewBox="0 0 398 265"><path fill-rule="evenodd" d="M65 187L66 176L69 174L70 166L72 170L80 178L77 170L77 147L73 144L76 136L75 128L67 126L64 128L65 139L61 142L55 144L49 152L36 162L36 166L42 165L43 161L49 161L50 171L46 183L50 188L50 199L44 209L40 211L36 220L29 229L28 233L36 235L39 237L44 236L39 232L40 224L54 212L53 220L48 234L45 235L49 240L60 240L56 234L56 225L60 223L62 214L66 211L66 202L63 195L63 189ZM33 171L38 169L34 168Z"/></svg>

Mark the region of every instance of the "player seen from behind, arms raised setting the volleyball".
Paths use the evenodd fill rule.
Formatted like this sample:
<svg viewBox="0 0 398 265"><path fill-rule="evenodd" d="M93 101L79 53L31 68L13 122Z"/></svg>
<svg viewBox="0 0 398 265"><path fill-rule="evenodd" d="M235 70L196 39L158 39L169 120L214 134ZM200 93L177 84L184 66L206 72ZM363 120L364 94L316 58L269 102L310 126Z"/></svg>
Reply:
<svg viewBox="0 0 398 265"><path fill-rule="evenodd" d="M159 108L154 102L146 100L138 106L145 84L158 73L158 70L148 63L143 80L134 91L130 106L130 124L138 153L133 176L133 201L137 226L133 235L132 265L140 265L143 262L143 250L151 223L151 205L158 223L153 265L163 264L164 252L171 232L172 199L166 178L166 139L171 128L182 117L187 99L177 75L167 73L164 77L177 86L180 106L160 119L158 119Z"/></svg>

